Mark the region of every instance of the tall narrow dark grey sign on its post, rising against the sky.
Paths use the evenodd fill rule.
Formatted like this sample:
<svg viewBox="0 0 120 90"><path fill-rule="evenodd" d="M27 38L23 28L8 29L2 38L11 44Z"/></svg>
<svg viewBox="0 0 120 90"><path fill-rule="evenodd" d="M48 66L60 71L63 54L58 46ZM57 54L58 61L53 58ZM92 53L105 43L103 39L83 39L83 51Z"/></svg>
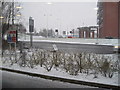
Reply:
<svg viewBox="0 0 120 90"><path fill-rule="evenodd" d="M30 47L32 48L32 32L34 31L34 20L29 17Z"/></svg>

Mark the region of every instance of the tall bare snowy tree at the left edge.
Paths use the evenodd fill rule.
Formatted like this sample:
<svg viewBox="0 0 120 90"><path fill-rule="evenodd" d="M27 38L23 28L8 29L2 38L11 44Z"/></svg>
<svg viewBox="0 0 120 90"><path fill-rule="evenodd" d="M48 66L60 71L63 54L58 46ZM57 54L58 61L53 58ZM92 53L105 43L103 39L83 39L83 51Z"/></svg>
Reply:
<svg viewBox="0 0 120 90"><path fill-rule="evenodd" d="M20 6L18 2L6 2L1 1L1 11L0 15L3 17L2 19L2 48L3 50L7 47L7 41L4 40L4 35L9 30L10 27L14 24L14 21L19 20L16 15L21 14L20 9L16 8L16 6Z"/></svg>

